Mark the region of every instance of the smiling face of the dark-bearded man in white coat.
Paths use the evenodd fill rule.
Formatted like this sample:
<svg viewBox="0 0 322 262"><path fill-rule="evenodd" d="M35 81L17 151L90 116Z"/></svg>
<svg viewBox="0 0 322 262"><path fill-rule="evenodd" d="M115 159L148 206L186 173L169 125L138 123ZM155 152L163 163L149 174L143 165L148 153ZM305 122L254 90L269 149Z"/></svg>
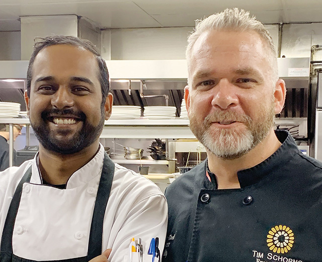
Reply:
<svg viewBox="0 0 322 262"><path fill-rule="evenodd" d="M82 47L52 45L37 54L26 103L47 150L71 154L98 141L112 104L110 96L102 104L98 70L94 54Z"/></svg>

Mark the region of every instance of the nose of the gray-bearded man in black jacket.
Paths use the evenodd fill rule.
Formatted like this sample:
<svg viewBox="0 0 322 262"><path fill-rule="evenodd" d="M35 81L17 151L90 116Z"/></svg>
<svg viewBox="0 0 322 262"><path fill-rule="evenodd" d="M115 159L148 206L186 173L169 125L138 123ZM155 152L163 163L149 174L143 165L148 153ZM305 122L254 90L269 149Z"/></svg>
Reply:
<svg viewBox="0 0 322 262"><path fill-rule="evenodd" d="M220 79L217 86L213 89L214 95L211 101L213 107L228 109L238 104L236 87L228 79Z"/></svg>

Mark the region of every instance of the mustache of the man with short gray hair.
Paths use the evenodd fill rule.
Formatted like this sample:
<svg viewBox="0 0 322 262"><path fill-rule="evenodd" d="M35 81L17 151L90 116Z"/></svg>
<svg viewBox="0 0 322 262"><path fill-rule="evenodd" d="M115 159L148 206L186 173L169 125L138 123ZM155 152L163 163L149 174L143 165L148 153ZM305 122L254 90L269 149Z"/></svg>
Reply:
<svg viewBox="0 0 322 262"><path fill-rule="evenodd" d="M244 113L237 113L231 110L216 111L205 117L204 124L210 125L213 122L221 122L221 121L235 121L235 122L249 124L252 122L252 119Z"/></svg>

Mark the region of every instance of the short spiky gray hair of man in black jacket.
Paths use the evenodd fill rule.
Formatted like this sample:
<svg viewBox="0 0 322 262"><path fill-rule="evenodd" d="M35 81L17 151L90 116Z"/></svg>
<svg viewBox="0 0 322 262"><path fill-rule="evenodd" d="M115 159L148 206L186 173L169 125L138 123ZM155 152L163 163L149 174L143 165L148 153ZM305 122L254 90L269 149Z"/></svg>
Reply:
<svg viewBox="0 0 322 262"><path fill-rule="evenodd" d="M256 18L250 17L250 13L241 9L240 11L238 8L234 9L225 9L221 13L217 13L214 15L209 16L203 20L196 20L196 28L194 32L188 37L188 45L186 49L186 59L188 62L188 68L190 68L190 61L191 61L191 53L192 48L200 37L200 35L204 32L210 30L231 30L231 31L238 31L238 32L245 32L245 31L255 31L257 32L264 43L266 43L271 50L271 58L272 58L272 68L274 74L274 80L278 79L278 72L277 72L277 56L276 56L276 48L273 43L273 39L264 25L256 20Z"/></svg>

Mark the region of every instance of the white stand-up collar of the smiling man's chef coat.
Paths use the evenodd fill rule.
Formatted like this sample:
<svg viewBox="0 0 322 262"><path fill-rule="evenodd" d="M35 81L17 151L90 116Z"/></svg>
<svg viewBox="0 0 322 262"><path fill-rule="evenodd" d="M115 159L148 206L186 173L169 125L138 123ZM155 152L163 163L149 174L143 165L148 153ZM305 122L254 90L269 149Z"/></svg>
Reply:
<svg viewBox="0 0 322 262"><path fill-rule="evenodd" d="M66 189L72 189L87 184L92 179L101 176L104 160L104 147L100 144L100 149L96 155L84 166L76 170L68 179ZM39 152L35 155L32 163L32 175L30 183L42 184L42 178L38 167ZM112 161L110 159L110 161ZM48 185L46 185L48 186Z"/></svg>

